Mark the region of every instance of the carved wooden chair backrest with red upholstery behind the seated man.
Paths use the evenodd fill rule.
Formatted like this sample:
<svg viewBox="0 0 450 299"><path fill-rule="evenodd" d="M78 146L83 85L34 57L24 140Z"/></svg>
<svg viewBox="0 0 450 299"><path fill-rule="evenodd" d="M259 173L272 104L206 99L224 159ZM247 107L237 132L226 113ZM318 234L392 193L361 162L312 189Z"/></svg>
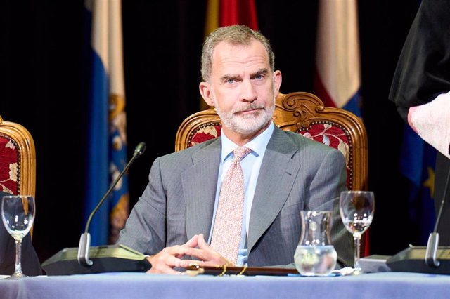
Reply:
<svg viewBox="0 0 450 299"><path fill-rule="evenodd" d="M276 97L274 123L335 147L345 156L349 190L368 188L368 144L366 128L359 117L344 109L324 107L311 93L295 92ZM176 133L175 151L184 150L221 133L221 121L214 109L187 117Z"/></svg>

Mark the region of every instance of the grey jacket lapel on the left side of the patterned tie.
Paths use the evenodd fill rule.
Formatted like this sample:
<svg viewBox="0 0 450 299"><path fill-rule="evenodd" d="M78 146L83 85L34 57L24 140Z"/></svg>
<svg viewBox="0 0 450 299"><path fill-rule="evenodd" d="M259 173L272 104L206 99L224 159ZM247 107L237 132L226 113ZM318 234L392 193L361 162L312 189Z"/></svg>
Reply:
<svg viewBox="0 0 450 299"><path fill-rule="evenodd" d="M192 156L192 167L184 171L181 182L186 198L186 236L203 233L207 241L214 211L221 141L217 138Z"/></svg>

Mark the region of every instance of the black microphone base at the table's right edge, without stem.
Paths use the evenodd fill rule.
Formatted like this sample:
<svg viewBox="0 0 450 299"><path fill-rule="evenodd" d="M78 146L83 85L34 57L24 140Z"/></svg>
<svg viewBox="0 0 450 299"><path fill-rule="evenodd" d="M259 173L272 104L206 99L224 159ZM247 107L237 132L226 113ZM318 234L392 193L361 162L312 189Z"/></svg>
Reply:
<svg viewBox="0 0 450 299"><path fill-rule="evenodd" d="M439 267L428 267L425 263L427 246L412 246L387 259L387 266L394 272L419 272L450 274L450 246L439 246L436 259Z"/></svg>

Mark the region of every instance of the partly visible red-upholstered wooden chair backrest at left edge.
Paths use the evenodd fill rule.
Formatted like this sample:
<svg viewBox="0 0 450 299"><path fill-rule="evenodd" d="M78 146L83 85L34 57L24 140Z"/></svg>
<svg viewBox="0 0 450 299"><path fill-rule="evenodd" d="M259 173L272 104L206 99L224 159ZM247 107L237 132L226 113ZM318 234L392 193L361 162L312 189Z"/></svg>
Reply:
<svg viewBox="0 0 450 299"><path fill-rule="evenodd" d="M36 150L29 131L0 117L0 190L35 196Z"/></svg>

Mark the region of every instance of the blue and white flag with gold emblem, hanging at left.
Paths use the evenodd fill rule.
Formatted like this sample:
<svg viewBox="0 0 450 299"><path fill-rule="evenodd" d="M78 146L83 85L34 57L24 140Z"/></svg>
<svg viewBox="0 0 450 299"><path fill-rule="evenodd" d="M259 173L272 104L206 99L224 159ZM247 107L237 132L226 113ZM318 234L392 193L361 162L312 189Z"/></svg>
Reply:
<svg viewBox="0 0 450 299"><path fill-rule="evenodd" d="M121 1L86 1L89 31L89 119L84 223L127 164ZM89 226L92 245L113 244L129 213L127 175Z"/></svg>

